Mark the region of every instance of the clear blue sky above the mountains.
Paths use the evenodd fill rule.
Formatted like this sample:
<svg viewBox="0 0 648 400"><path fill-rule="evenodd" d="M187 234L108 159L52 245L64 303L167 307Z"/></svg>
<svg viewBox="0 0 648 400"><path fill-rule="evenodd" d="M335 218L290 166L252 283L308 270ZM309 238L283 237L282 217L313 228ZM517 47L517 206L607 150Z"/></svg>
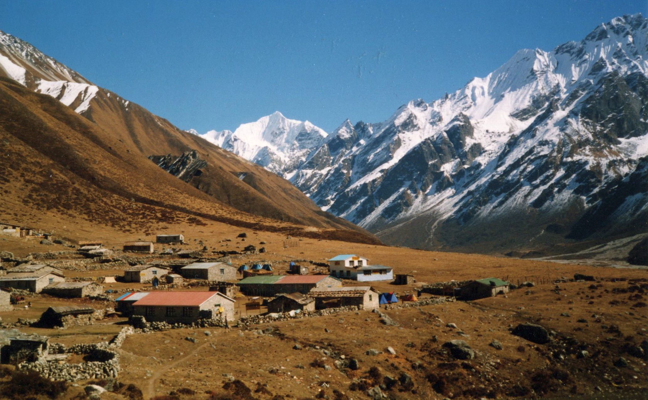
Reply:
<svg viewBox="0 0 648 400"><path fill-rule="evenodd" d="M330 132L636 12L645 0L2 1L0 30L179 128L279 110Z"/></svg>

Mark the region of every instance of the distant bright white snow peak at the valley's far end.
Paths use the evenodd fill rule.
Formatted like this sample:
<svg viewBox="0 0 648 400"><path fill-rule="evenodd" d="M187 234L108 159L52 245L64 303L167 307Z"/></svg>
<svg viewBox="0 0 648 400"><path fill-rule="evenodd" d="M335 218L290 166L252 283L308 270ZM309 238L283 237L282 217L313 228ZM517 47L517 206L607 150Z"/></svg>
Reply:
<svg viewBox="0 0 648 400"><path fill-rule="evenodd" d="M188 130L198 134L195 130ZM214 145L253 161L281 176L289 176L327 133L308 121L274 112L237 130L210 130L200 135Z"/></svg>

